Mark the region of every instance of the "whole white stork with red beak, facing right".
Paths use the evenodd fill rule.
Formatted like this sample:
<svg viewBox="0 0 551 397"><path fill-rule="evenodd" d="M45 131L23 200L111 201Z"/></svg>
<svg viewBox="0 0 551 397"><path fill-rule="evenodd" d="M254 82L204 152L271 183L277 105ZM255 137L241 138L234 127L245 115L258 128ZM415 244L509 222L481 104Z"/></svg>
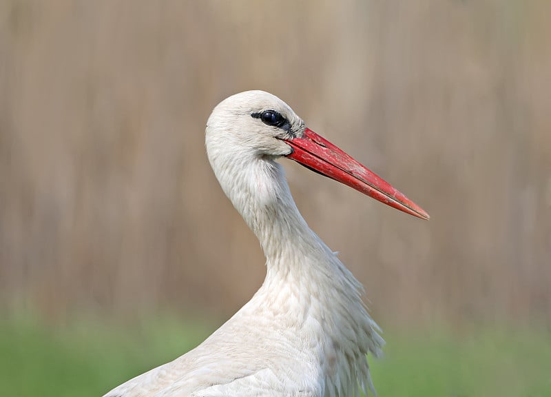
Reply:
<svg viewBox="0 0 551 397"><path fill-rule="evenodd" d="M218 104L207 121L206 147L222 189L262 245L266 279L205 342L105 397L374 391L366 355L379 356L384 340L362 301L362 285L306 225L276 160L293 159L413 216L428 214L267 92L241 92Z"/></svg>

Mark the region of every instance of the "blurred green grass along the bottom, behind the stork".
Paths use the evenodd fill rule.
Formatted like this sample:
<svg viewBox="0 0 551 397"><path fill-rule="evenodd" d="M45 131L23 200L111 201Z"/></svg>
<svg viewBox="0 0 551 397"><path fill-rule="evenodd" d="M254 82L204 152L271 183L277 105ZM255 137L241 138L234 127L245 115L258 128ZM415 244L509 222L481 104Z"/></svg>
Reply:
<svg viewBox="0 0 551 397"><path fill-rule="evenodd" d="M0 324L3 396L102 396L111 387L183 354L215 324L174 317L132 325L74 320L45 326L32 317ZM371 359L384 396L551 396L551 332L543 327L444 328L384 334Z"/></svg>

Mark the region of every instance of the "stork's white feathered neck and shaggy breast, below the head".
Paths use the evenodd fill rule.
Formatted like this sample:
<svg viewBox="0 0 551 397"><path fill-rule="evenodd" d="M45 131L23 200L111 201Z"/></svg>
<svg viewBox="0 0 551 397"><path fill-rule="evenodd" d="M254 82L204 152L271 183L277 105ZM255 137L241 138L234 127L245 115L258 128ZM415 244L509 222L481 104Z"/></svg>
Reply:
<svg viewBox="0 0 551 397"><path fill-rule="evenodd" d="M273 159L249 158L214 169L267 258L266 280L243 309L277 311L289 302L306 302L292 305L289 326L299 323L304 330L312 317L317 318L314 324L322 325L315 332L322 336L320 361L333 362L334 367L324 369L329 374L326 394L355 395L358 382L364 391L372 389L365 355L378 356L384 340L362 302L362 285L310 230L282 167Z"/></svg>

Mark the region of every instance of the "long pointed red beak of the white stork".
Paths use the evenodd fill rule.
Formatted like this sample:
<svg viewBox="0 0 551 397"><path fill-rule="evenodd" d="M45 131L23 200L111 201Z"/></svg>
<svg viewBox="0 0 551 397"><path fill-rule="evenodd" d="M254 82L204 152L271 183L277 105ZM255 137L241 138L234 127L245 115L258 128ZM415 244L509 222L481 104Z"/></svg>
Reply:
<svg viewBox="0 0 551 397"><path fill-rule="evenodd" d="M287 156L289 159L397 210L417 218L430 218L419 205L309 128L304 130L302 138L286 142L293 147L293 153Z"/></svg>

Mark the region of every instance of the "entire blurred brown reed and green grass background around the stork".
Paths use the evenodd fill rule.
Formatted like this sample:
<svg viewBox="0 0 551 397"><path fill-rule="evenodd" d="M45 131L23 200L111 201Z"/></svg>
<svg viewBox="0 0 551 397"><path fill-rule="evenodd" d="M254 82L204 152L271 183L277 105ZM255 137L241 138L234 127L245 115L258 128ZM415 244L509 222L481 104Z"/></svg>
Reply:
<svg viewBox="0 0 551 397"><path fill-rule="evenodd" d="M206 120L266 90L428 222L284 161L365 285L380 396L551 395L551 3L0 1L0 380L97 396L265 274ZM8 393L9 391L9 393Z"/></svg>

